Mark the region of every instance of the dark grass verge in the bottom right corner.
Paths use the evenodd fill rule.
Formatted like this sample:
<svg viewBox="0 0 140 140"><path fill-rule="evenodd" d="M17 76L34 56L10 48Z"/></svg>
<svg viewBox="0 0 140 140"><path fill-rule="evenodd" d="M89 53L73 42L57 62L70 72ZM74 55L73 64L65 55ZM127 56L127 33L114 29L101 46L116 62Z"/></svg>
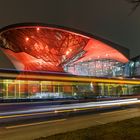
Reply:
<svg viewBox="0 0 140 140"><path fill-rule="evenodd" d="M36 140L140 140L140 117L42 137Z"/></svg>

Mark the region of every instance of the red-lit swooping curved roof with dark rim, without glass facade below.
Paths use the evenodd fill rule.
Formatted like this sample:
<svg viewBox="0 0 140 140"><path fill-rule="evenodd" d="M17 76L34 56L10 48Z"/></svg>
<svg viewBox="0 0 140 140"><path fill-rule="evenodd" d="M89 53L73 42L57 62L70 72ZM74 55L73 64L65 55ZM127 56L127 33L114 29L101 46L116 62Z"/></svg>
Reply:
<svg viewBox="0 0 140 140"><path fill-rule="evenodd" d="M78 30L23 23L0 30L1 51L17 69L64 71L68 63L92 59L128 62L127 49Z"/></svg>

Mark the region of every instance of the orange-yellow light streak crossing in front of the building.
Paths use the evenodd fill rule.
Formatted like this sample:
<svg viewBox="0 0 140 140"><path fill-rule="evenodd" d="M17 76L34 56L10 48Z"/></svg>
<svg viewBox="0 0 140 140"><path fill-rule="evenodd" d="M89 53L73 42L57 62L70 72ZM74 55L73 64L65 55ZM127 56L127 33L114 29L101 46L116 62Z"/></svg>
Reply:
<svg viewBox="0 0 140 140"><path fill-rule="evenodd" d="M50 80L50 81L79 81L79 82L97 82L97 83L117 83L117 84L135 84L140 85L139 79L108 79L108 78L95 78L95 77L82 77L82 76L54 76L54 75L37 75L37 74L15 74L15 73L4 73L0 72L3 78L18 78L18 79L32 79L32 80Z"/></svg>

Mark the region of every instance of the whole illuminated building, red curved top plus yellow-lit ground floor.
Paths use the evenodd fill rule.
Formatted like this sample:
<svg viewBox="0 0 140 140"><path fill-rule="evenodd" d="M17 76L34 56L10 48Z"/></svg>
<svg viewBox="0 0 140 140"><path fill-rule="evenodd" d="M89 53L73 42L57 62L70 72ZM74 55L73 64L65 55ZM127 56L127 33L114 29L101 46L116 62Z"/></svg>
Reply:
<svg viewBox="0 0 140 140"><path fill-rule="evenodd" d="M11 25L0 31L0 54L2 99L118 97L139 90L139 84L133 82L104 83L87 78L79 82L80 76L123 76L129 54L126 48L77 30L44 24ZM65 78L60 80L58 75ZM70 76L77 79L70 80Z"/></svg>

